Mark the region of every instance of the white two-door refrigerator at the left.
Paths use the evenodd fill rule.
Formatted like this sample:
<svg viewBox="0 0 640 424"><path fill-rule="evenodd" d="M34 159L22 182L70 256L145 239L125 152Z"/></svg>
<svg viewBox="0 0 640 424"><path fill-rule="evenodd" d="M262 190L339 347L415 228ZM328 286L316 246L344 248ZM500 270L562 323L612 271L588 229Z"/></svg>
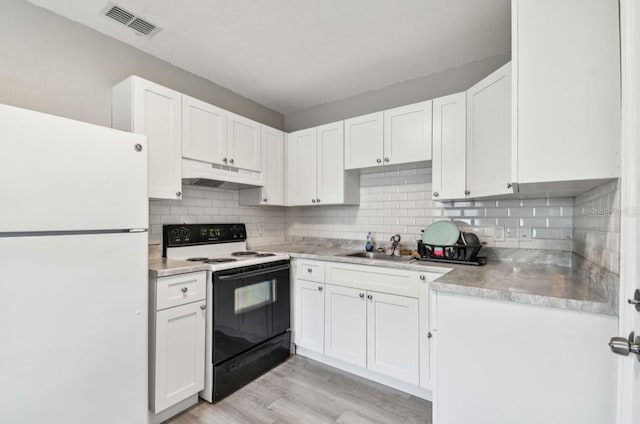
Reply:
<svg viewBox="0 0 640 424"><path fill-rule="evenodd" d="M0 423L147 421L146 143L0 105Z"/></svg>

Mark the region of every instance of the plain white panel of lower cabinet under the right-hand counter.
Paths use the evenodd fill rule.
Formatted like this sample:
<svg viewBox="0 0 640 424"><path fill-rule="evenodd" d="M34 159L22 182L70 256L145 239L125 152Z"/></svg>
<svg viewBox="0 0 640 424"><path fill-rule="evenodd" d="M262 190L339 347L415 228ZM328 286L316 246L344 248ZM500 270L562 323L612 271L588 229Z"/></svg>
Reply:
<svg viewBox="0 0 640 424"><path fill-rule="evenodd" d="M616 422L615 316L436 292L433 422Z"/></svg>

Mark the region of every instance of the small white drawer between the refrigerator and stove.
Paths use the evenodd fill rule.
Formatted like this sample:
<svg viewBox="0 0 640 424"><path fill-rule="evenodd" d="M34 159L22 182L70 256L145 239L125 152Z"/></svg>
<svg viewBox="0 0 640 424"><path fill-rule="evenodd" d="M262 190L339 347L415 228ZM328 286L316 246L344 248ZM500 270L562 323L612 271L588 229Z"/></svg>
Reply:
<svg viewBox="0 0 640 424"><path fill-rule="evenodd" d="M207 273L191 272L158 278L156 310L172 308L207 297Z"/></svg>

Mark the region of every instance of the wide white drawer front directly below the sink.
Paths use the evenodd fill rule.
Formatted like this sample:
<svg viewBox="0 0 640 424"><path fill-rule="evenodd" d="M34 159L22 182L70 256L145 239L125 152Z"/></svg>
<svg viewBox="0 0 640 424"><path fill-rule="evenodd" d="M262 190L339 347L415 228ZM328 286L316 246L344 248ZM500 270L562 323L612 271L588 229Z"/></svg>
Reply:
<svg viewBox="0 0 640 424"><path fill-rule="evenodd" d="M327 263L326 272L328 284L415 298L420 294L420 275L426 275L417 271L335 262Z"/></svg>

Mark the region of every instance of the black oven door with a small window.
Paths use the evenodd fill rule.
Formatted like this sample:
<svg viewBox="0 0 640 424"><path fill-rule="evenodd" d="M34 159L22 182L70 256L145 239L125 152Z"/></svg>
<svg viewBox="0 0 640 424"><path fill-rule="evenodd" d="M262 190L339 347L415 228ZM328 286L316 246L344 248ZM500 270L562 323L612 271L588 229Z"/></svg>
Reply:
<svg viewBox="0 0 640 424"><path fill-rule="evenodd" d="M290 327L289 261L213 273L213 364Z"/></svg>

